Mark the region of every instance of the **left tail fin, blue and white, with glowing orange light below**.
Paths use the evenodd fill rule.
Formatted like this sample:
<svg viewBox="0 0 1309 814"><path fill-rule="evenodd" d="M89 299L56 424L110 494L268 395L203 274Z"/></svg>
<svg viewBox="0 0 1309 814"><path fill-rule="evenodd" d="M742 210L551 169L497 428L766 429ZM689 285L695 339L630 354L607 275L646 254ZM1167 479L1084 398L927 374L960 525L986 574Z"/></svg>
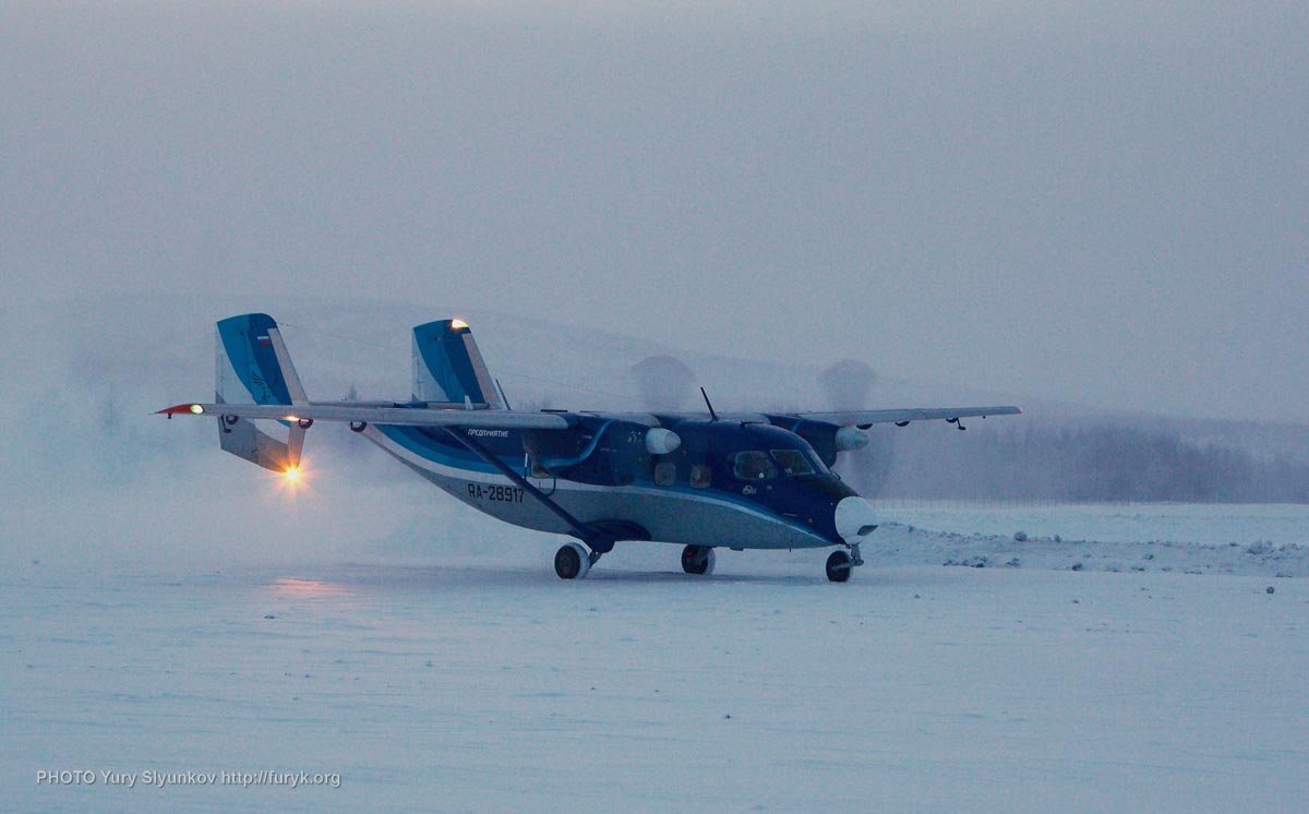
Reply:
<svg viewBox="0 0 1309 814"><path fill-rule="evenodd" d="M291 364L276 321L268 314L242 314L217 326L215 402L219 404L308 404L305 389ZM275 472L300 467L305 428L285 427L285 441L255 425L251 419L219 416L219 444L224 451ZM272 432L281 434L280 429Z"/></svg>

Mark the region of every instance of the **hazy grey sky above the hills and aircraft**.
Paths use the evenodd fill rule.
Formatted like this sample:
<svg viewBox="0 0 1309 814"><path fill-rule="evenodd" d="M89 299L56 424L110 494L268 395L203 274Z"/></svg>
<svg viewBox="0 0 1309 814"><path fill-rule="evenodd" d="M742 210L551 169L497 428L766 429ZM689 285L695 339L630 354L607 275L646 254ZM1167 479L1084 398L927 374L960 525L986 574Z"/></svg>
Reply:
<svg viewBox="0 0 1309 814"><path fill-rule="evenodd" d="M1304 420L1304 3L119 5L0 9L10 308L335 292Z"/></svg>

